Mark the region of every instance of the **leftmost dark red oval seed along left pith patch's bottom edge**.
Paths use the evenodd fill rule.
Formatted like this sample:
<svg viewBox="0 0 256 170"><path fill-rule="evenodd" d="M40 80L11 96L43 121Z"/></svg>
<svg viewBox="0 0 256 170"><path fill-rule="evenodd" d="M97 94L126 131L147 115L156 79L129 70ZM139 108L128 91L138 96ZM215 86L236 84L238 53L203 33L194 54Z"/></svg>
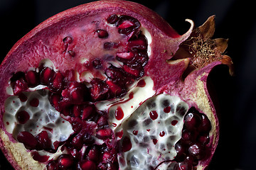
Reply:
<svg viewBox="0 0 256 170"><path fill-rule="evenodd" d="M36 137L26 131L18 132L17 140L18 142L23 143L28 149L36 149L36 145L38 143Z"/></svg>

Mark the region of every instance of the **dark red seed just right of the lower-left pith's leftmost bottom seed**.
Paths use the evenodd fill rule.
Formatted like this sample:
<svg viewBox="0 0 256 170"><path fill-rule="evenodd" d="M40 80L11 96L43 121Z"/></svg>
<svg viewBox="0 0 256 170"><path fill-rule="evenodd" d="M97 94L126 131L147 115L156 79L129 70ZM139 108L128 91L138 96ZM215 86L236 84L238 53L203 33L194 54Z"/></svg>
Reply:
<svg viewBox="0 0 256 170"><path fill-rule="evenodd" d="M46 130L43 130L38 135L36 135L36 140L38 141L38 145L37 145L38 149L50 149L51 140Z"/></svg>

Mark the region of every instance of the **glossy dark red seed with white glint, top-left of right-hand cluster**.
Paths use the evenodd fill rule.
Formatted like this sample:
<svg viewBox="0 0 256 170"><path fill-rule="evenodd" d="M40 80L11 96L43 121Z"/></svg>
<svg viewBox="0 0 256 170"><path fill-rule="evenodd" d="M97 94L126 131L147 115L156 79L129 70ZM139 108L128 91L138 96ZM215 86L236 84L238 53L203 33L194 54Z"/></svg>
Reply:
<svg viewBox="0 0 256 170"><path fill-rule="evenodd" d="M194 130L195 128L198 127L200 123L200 119L198 114L196 113L188 113L185 118L184 118L184 126L188 130Z"/></svg>

